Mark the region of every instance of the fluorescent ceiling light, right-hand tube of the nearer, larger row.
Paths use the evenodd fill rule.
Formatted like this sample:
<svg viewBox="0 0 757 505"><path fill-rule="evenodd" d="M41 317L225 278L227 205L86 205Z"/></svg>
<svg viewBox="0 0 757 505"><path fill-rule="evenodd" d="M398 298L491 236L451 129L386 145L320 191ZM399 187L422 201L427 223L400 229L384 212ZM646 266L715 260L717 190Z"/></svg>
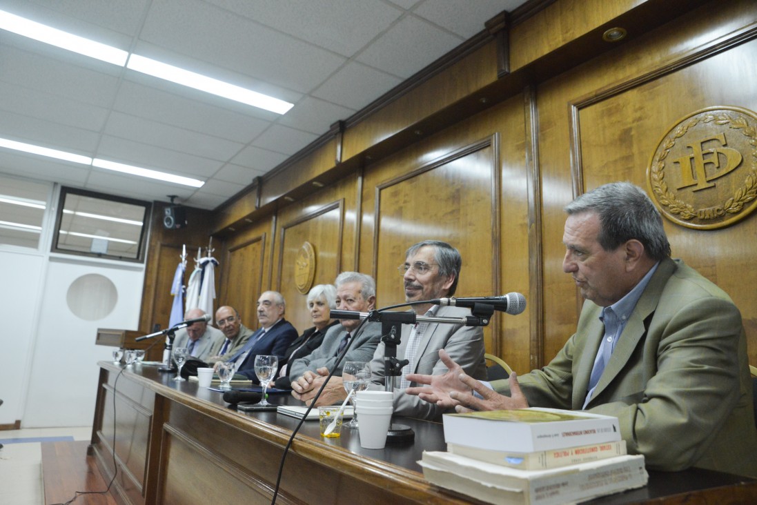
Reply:
<svg viewBox="0 0 757 505"><path fill-rule="evenodd" d="M229 98L229 100L239 101L243 104L265 109L266 111L276 112L277 114L285 114L289 109L294 107L294 104L290 104L288 101L224 83L218 79L190 72L179 67L173 67L173 65L151 60L140 55L131 55L126 68L165 79L172 83L181 84L182 86L199 89L200 91L223 98Z"/></svg>

